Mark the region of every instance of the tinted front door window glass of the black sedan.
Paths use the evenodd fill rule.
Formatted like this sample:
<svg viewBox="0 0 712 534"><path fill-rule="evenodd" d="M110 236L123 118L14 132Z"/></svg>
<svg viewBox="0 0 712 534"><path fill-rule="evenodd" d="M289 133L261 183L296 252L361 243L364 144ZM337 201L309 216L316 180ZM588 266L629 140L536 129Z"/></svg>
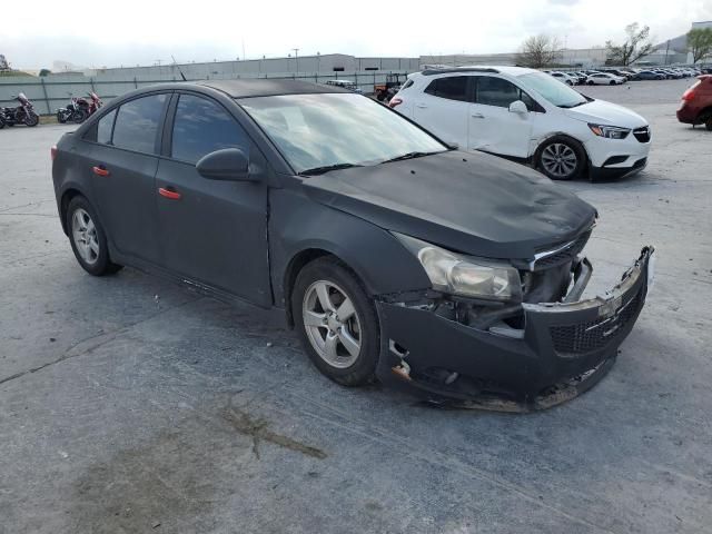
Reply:
<svg viewBox="0 0 712 534"><path fill-rule="evenodd" d="M174 122L174 158L195 164L215 150L245 146L243 128L225 108L201 97L180 96Z"/></svg>

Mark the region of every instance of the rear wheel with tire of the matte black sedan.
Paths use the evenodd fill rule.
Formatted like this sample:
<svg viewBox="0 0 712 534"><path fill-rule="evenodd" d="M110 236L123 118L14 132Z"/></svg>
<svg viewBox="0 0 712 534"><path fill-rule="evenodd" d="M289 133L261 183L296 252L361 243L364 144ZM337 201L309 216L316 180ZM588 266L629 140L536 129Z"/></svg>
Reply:
<svg viewBox="0 0 712 534"><path fill-rule="evenodd" d="M85 197L77 196L70 200L66 217L71 249L82 269L93 276L110 275L121 269L109 258L106 233Z"/></svg>

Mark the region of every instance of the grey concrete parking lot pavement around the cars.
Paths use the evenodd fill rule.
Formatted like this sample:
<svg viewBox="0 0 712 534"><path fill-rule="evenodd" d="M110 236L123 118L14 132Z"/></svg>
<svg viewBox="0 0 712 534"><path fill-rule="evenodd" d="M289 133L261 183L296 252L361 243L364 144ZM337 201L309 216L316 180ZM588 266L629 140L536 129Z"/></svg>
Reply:
<svg viewBox="0 0 712 534"><path fill-rule="evenodd" d="M612 372L528 415L446 411L317 373L293 333L62 234L49 147L0 131L0 533L712 532L712 132L691 80L580 90L651 122L647 168L593 204L587 293L643 245L656 278Z"/></svg>

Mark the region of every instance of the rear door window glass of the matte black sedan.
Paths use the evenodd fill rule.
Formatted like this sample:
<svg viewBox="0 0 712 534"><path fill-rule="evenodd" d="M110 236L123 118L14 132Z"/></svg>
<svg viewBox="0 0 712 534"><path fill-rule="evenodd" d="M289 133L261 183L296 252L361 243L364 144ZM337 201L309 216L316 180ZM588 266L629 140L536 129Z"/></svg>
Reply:
<svg viewBox="0 0 712 534"><path fill-rule="evenodd" d="M167 99L167 95L151 95L122 105L113 127L113 146L154 154L158 125Z"/></svg>

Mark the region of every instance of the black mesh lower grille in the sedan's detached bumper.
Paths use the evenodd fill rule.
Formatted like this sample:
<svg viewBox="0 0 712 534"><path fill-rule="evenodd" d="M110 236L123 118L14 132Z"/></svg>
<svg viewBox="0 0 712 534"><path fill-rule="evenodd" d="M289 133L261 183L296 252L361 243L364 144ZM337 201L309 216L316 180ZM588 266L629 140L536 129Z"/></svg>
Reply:
<svg viewBox="0 0 712 534"><path fill-rule="evenodd" d="M612 317L577 325L550 328L554 349L560 356L574 357L604 348L617 339L625 326L637 316L643 304L643 288Z"/></svg>

